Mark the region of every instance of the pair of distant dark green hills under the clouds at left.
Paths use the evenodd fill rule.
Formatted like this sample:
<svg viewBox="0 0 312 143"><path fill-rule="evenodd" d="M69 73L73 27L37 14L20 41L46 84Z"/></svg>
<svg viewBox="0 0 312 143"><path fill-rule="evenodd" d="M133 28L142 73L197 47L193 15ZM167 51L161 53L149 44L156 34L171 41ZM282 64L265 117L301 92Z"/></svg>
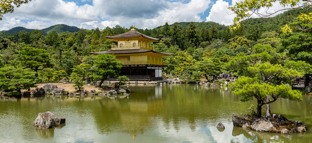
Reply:
<svg viewBox="0 0 312 143"><path fill-rule="evenodd" d="M10 30L1 31L1 32L14 34L14 32L20 32L22 30L25 30L26 32L31 32L34 29L28 29L28 28L25 28L25 27L14 27L14 28L12 28ZM80 30L80 28L75 27L75 26L68 26L68 25L65 25L65 24L56 24L56 25L50 26L48 28L44 28L41 31L42 31L43 35L46 36L48 33L52 32L52 31L56 31L57 33L61 33L61 32L66 32L66 31L78 32L79 30Z"/></svg>

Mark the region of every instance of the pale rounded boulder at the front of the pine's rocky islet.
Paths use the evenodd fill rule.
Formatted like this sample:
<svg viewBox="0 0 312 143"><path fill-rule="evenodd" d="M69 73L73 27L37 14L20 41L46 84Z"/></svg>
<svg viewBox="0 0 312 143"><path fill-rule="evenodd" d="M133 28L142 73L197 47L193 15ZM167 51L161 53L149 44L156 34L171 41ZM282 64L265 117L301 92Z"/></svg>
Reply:
<svg viewBox="0 0 312 143"><path fill-rule="evenodd" d="M267 131L275 132L276 128L268 118L260 118L254 121L251 125L251 129L255 131Z"/></svg>

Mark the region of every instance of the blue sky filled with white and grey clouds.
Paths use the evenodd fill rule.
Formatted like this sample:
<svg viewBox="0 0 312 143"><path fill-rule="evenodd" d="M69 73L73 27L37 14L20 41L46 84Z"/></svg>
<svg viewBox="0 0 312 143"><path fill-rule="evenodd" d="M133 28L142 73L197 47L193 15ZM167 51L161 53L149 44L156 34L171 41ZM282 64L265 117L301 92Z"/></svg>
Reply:
<svg viewBox="0 0 312 143"><path fill-rule="evenodd" d="M32 0L0 21L0 31L13 27L43 29L56 24L103 29L120 25L141 29L174 22L213 21L231 25L227 9L238 0ZM276 5L279 7L279 5ZM281 12L279 12L281 13ZM278 13L277 13L278 14Z"/></svg>

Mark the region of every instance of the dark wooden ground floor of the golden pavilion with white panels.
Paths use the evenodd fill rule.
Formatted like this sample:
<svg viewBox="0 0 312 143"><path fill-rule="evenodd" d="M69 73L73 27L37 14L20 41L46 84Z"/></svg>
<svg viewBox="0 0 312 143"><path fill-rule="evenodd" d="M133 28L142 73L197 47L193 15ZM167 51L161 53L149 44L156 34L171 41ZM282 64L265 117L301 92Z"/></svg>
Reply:
<svg viewBox="0 0 312 143"><path fill-rule="evenodd" d="M163 80L163 65L124 65L120 69L119 76L127 76L130 80ZM114 79L114 78L109 78Z"/></svg>

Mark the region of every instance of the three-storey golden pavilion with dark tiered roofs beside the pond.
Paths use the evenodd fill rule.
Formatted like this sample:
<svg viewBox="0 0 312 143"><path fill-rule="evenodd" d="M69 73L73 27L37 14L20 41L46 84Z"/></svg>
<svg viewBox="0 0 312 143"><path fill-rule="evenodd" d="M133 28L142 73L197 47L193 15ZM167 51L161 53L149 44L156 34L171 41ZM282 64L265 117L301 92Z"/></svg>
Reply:
<svg viewBox="0 0 312 143"><path fill-rule="evenodd" d="M108 40L118 42L110 51L90 52L91 54L114 54L116 60L123 62L120 76L126 75L130 80L163 80L162 67L168 65L162 57L170 53L155 52L149 42L159 42L158 38L137 32L133 26L129 32L115 36L106 36Z"/></svg>

